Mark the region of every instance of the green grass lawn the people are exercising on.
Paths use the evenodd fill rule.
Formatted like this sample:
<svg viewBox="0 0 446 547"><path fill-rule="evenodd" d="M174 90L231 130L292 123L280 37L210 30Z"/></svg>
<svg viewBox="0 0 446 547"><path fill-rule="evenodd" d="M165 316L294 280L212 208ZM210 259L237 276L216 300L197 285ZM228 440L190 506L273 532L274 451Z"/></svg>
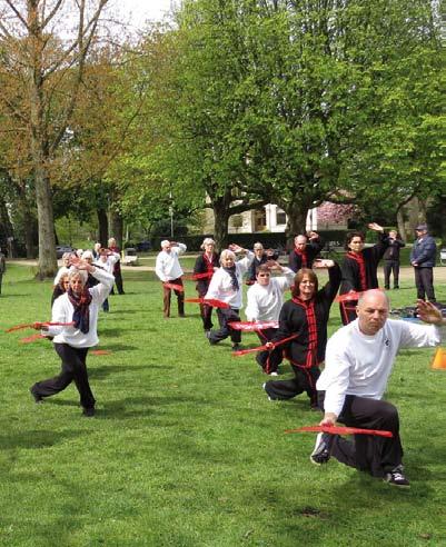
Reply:
<svg viewBox="0 0 446 547"><path fill-rule="evenodd" d="M73 386L32 402L29 387L59 359L46 340L19 344L31 331L3 331L49 318L50 284L24 267L3 278L0 545L446 545L446 372L429 369L433 349L404 351L389 384L412 481L400 491L336 461L311 466L314 435L284 435L318 421L306 397L268 401L252 356L210 347L196 306L163 320L152 274L126 271L125 288L100 317L112 354L89 356L98 414L85 419ZM410 304L415 289L392 296Z"/></svg>

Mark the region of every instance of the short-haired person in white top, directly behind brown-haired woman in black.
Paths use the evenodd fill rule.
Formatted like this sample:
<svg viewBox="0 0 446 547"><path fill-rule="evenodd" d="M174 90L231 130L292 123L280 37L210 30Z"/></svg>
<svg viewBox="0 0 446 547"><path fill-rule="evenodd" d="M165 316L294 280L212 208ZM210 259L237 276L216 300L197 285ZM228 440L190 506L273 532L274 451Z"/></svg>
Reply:
<svg viewBox="0 0 446 547"><path fill-rule="evenodd" d="M285 275L271 277L270 270L279 270ZM290 268L284 268L274 260L258 266L256 282L247 292L248 304L245 314L248 321L278 321L284 305L284 292L293 285L294 278L295 272ZM265 344L276 336L277 328L258 330L257 334L260 341ZM283 348L259 351L256 360L267 375L277 376L283 360Z"/></svg>

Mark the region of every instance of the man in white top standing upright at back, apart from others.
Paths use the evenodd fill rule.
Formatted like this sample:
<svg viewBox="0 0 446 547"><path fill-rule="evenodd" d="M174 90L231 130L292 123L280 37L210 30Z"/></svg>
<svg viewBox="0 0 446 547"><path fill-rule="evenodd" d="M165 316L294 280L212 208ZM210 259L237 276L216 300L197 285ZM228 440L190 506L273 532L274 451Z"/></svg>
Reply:
<svg viewBox="0 0 446 547"><path fill-rule="evenodd" d="M171 289L166 284L179 285L182 287L182 269L178 256L186 251L185 243L177 243L165 239L161 241L161 252L157 256L155 272L162 281L163 294L163 315L170 317L170 294ZM178 300L178 317L185 317L185 292L174 289Z"/></svg>

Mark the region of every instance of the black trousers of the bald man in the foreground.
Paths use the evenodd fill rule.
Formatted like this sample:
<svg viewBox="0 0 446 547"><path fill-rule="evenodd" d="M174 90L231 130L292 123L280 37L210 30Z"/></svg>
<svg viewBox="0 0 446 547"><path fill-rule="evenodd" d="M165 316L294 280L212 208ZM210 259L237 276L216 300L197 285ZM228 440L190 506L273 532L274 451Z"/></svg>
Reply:
<svg viewBox="0 0 446 547"><path fill-rule="evenodd" d="M318 392L319 407L324 410L325 391ZM354 435L347 440L340 435L333 439L331 455L341 464L384 477L402 464L403 447L399 438L398 410L385 400L347 395L338 421L348 427L385 429L394 437Z"/></svg>

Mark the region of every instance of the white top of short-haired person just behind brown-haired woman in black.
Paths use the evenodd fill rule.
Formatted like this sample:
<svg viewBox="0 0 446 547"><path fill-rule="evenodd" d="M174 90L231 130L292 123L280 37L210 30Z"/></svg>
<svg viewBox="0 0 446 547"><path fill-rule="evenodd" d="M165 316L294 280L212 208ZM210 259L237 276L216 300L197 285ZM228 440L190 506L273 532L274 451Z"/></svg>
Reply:
<svg viewBox="0 0 446 547"><path fill-rule="evenodd" d="M284 268L285 276L271 277L268 285L251 285L245 309L248 321L278 321L284 305L284 292L293 285L295 272Z"/></svg>

